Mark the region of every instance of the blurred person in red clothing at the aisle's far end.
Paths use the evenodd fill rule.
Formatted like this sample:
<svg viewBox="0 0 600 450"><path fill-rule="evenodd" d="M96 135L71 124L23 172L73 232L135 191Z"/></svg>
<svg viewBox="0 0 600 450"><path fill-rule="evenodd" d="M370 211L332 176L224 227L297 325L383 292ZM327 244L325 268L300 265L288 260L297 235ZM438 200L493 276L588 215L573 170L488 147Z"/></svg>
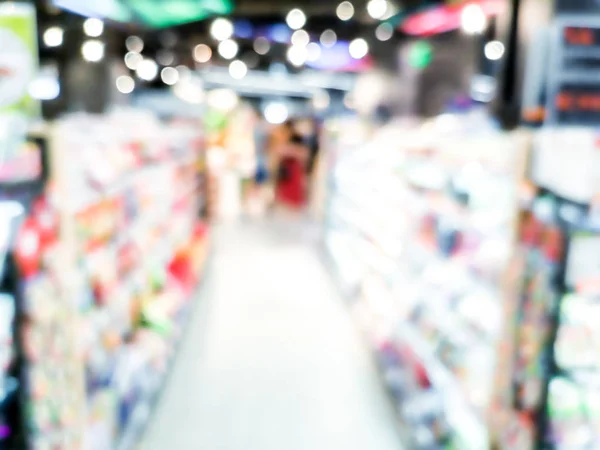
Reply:
<svg viewBox="0 0 600 450"><path fill-rule="evenodd" d="M275 151L279 161L275 199L278 204L301 209L306 204L306 164L310 151L291 121L283 125L286 142Z"/></svg>

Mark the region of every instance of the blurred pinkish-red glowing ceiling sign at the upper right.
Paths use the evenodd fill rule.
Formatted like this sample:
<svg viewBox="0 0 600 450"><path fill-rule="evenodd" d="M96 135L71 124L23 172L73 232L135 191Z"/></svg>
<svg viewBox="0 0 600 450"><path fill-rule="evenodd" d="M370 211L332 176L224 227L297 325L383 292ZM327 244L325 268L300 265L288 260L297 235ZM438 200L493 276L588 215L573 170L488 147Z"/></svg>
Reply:
<svg viewBox="0 0 600 450"><path fill-rule="evenodd" d="M461 26L463 9L469 5L480 6L487 17L496 16L506 8L501 0L472 0L438 6L410 16L400 25L400 30L412 36L432 36L457 30Z"/></svg>

